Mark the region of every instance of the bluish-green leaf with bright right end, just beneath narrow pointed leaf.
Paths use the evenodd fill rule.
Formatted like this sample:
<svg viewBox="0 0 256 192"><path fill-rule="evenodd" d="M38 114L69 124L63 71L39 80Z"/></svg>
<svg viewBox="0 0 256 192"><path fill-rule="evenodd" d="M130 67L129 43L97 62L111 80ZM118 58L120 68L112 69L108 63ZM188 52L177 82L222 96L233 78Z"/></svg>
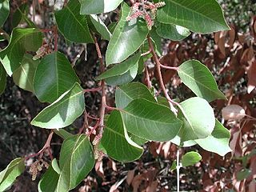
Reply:
<svg viewBox="0 0 256 192"><path fill-rule="evenodd" d="M130 68L126 73L106 78L106 84L110 86L122 86L128 82L132 82L138 74L138 62Z"/></svg>

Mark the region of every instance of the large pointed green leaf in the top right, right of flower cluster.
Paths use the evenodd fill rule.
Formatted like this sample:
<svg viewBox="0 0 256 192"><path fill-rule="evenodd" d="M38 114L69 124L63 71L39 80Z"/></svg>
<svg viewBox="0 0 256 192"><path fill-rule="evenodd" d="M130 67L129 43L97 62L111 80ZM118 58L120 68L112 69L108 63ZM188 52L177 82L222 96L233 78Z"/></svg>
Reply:
<svg viewBox="0 0 256 192"><path fill-rule="evenodd" d="M208 34L219 30L230 30L224 19L222 8L216 0L164 0L166 6L158 10L158 22L186 27L196 33Z"/></svg>

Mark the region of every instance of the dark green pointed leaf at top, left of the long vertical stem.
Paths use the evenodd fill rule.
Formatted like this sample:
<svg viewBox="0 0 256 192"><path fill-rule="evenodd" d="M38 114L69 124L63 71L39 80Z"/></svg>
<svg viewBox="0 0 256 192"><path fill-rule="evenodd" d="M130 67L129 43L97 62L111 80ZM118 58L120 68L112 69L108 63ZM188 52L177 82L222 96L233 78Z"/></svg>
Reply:
<svg viewBox="0 0 256 192"><path fill-rule="evenodd" d="M58 30L71 42L94 42L90 35L86 17L79 14L78 0L70 1L65 8L55 12Z"/></svg>

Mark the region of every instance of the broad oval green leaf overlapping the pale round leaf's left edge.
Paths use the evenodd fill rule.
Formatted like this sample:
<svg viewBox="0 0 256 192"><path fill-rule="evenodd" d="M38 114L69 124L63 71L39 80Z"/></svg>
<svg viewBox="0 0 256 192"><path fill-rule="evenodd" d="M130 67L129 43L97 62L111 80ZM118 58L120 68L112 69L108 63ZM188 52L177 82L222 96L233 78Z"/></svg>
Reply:
<svg viewBox="0 0 256 192"><path fill-rule="evenodd" d="M121 110L127 131L152 141L169 141L174 138L182 122L166 106L144 98L134 99Z"/></svg>

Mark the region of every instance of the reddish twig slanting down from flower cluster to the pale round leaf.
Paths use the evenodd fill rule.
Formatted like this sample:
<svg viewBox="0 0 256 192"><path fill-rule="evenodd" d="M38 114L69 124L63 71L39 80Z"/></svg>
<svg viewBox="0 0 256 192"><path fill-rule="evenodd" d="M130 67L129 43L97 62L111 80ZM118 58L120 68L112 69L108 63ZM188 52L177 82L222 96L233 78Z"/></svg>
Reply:
<svg viewBox="0 0 256 192"><path fill-rule="evenodd" d="M159 62L158 56L157 56L157 54L154 51L153 42L151 41L150 36L147 37L147 41L149 42L150 50L151 50L151 53L153 54L154 62L156 63L156 67L157 67L157 71L158 71L159 83L160 83L160 86L162 88L162 91L165 94L167 100L169 101L170 110L172 110L174 112L174 114L177 115L178 111L175 109L175 107L173 105L173 102L170 102L170 101L172 101L172 99L170 98L169 94L167 93L166 87L165 87L165 85L164 85L164 83L162 81L161 63Z"/></svg>

